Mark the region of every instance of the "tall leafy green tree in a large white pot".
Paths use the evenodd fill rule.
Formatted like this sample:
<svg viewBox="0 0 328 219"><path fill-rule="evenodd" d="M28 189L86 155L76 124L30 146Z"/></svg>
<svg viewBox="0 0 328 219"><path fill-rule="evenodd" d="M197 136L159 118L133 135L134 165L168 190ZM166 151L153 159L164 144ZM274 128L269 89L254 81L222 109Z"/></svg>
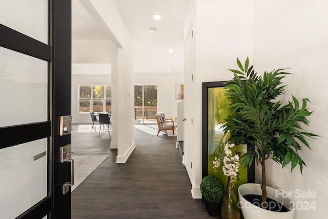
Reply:
<svg viewBox="0 0 328 219"><path fill-rule="evenodd" d="M222 123L225 132L230 131L231 137L236 140L235 144L250 145L249 150L243 157L241 165L249 167L253 160L257 164L261 164L262 177L261 185L244 184L238 189L240 202L247 202L243 195L250 194L249 186L254 187L255 195L260 195L258 199L261 208L250 209L250 215L244 211L247 208L242 207L243 216L247 218L267 218L262 214L255 212L270 212L272 205L268 202L268 196L275 191L267 187L265 177L265 161L269 158L285 167L291 164L291 171L299 165L302 172L305 165L298 151L302 146L310 148L306 141L306 137L315 137L316 134L303 132L301 124L308 125L307 116L312 114L306 103L309 99L302 99L302 106L299 101L292 95L293 102L283 105L277 100L277 97L285 92L285 85L282 85L282 79L286 69L277 69L271 72L264 72L263 75L257 75L253 66L249 67L249 59L247 58L242 65L237 58L239 70L231 69L234 78L227 82L227 95L231 99L231 115ZM269 198L274 198L273 197ZM252 199L257 198L253 196ZM284 202L283 200L278 200ZM268 204L269 203L269 204ZM287 202L284 202L285 204ZM277 204L277 203L276 203ZM278 204L279 205L279 204ZM292 209L293 206L286 206ZM294 211L286 211L286 217L279 215L278 218L293 218ZM273 210L275 211L275 210ZM271 211L272 212L272 211ZM274 212L276 215L276 212ZM257 217L259 216L259 217ZM268 217L268 218L277 218Z"/></svg>

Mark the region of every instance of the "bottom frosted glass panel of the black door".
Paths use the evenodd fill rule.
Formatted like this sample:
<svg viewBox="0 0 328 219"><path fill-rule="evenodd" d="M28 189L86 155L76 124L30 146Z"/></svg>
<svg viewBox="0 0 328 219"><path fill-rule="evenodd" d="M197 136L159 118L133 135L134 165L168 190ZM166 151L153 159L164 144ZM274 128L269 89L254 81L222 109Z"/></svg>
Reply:
<svg viewBox="0 0 328 219"><path fill-rule="evenodd" d="M47 153L47 139L0 150L0 218L15 218L47 196Z"/></svg>

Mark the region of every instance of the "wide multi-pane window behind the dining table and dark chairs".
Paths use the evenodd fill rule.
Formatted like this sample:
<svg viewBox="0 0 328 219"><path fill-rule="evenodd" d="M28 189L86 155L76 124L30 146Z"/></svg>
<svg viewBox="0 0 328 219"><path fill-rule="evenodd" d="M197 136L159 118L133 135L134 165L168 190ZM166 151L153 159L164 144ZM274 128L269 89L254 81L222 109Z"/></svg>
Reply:
<svg viewBox="0 0 328 219"><path fill-rule="evenodd" d="M79 85L78 93L79 113L107 112L112 110L112 86Z"/></svg>

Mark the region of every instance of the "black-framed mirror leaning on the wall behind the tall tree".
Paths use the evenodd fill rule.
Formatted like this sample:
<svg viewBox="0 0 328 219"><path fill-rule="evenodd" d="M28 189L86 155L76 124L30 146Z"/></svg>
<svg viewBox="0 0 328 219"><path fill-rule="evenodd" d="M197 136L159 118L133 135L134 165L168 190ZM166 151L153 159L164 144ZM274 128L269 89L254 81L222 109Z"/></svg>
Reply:
<svg viewBox="0 0 328 219"><path fill-rule="evenodd" d="M202 178L207 175L217 176L224 185L227 184L228 177L223 174L222 168L216 171L213 168L215 157L219 156L219 142L223 137L218 123L226 118L230 111L227 107L231 102L224 96L224 81L202 83ZM248 146L240 145L238 150L242 153L247 152ZM239 169L239 185L244 183L255 183L255 164L254 161L250 168Z"/></svg>

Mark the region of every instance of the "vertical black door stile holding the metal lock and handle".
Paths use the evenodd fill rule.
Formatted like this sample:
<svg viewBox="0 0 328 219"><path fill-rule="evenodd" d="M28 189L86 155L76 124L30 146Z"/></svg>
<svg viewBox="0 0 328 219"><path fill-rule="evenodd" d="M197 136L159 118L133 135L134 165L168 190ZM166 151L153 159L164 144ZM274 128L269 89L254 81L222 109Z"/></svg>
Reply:
<svg viewBox="0 0 328 219"><path fill-rule="evenodd" d="M71 190L63 195L63 185L71 181L70 163L60 163L60 147L71 144L71 134L59 135L60 116L71 115L71 8L70 0L50 0L50 63L52 119L52 212L50 218L71 218Z"/></svg>

